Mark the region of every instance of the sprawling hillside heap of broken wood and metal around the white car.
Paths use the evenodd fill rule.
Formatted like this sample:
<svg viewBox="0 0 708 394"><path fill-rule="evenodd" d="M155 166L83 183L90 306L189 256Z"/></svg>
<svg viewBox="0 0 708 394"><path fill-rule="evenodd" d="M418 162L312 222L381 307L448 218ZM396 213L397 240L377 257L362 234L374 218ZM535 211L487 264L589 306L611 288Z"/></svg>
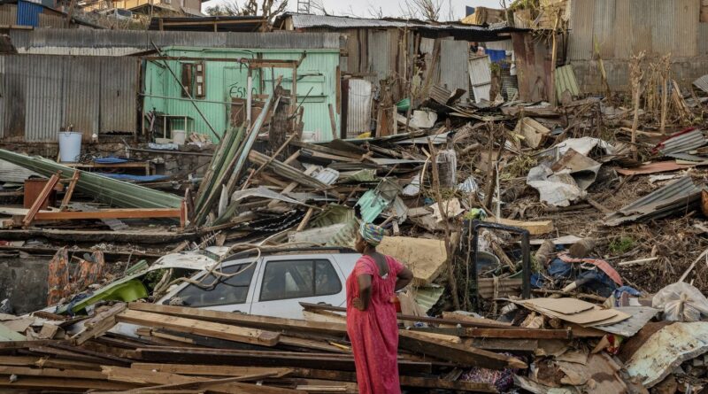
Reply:
<svg viewBox="0 0 708 394"><path fill-rule="evenodd" d="M405 388L701 392L706 92L662 81L671 104L655 91L631 108L619 95L467 104L435 87L397 113L395 133L328 143L304 141L302 112L274 89L252 124L223 135L198 187L135 205L106 196L146 190L0 151L49 178L29 207L3 208L0 230L45 243L6 249L116 243L84 246L76 264L59 250L49 309L0 315L0 385L356 392L339 306L305 302L302 321L156 302L233 251L342 248L364 220L387 228L380 251L415 277L399 295ZM64 199L47 205L59 183ZM208 246L223 249L200 261ZM172 263L135 263L169 252ZM140 327L126 336L117 323Z"/></svg>

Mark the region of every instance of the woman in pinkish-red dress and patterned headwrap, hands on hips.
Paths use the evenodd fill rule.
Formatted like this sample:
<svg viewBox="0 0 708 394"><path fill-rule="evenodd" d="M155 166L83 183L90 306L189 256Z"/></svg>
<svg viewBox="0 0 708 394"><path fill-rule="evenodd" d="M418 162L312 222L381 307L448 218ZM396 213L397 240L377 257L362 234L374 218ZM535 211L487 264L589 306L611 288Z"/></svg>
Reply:
<svg viewBox="0 0 708 394"><path fill-rule="evenodd" d="M363 256L347 278L347 333L359 394L400 394L398 321L393 298L413 279L411 270L376 251L383 228L365 223L354 248Z"/></svg>

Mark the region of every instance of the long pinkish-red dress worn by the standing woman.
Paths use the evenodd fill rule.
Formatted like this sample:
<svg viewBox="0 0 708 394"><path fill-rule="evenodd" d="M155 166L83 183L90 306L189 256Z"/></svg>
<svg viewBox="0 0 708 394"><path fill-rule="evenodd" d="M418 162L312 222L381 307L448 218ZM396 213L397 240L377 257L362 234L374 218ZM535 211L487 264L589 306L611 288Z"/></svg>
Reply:
<svg viewBox="0 0 708 394"><path fill-rule="evenodd" d="M404 266L387 256L389 274L379 275L379 267L368 256L358 259L347 278L347 333L357 366L359 394L400 394L398 382L398 321L392 301L396 276ZM372 276L372 296L366 311L351 302L359 297L358 276Z"/></svg>

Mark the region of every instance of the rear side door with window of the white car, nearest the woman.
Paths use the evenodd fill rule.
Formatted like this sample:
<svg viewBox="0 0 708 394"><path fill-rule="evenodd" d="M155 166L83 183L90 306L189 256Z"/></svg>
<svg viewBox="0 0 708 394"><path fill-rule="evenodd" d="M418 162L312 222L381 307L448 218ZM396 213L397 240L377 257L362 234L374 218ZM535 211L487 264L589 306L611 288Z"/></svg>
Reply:
<svg viewBox="0 0 708 394"><path fill-rule="evenodd" d="M271 256L263 260L250 313L303 319L301 302L341 305L344 282L332 256Z"/></svg>

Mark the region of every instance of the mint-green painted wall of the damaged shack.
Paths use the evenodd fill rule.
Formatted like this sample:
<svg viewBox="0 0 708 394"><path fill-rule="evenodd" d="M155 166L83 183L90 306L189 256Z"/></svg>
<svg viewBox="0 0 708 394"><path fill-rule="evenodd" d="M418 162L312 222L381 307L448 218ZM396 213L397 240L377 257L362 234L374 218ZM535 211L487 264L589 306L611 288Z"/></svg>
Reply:
<svg viewBox="0 0 708 394"><path fill-rule="evenodd" d="M219 135L223 135L229 125L232 97L245 98L248 66L238 62L241 58L263 58L297 60L304 50L237 50L171 47L163 50L165 57L177 58L233 58L234 61L205 61L206 97L197 98L196 103L209 123ZM181 63L169 60L173 72L181 77ZM194 63L193 61L189 63ZM339 66L338 50L307 50L306 56L297 68L297 103L304 107L304 131L314 132L318 141L332 139L332 126L328 104L336 109L336 67ZM189 131L212 135L207 123L202 119L189 99L181 96L181 87L174 80L162 60L147 61L145 65L143 111L155 108L158 112L171 115L187 115L194 120ZM270 94L273 81L283 77L281 86L290 89L292 71L289 68L265 68L253 72L254 94ZM263 81L263 88L260 86ZM312 90L311 90L312 89ZM308 95L308 92L310 94ZM169 97L169 98L164 98ZM306 97L306 98L305 98ZM340 114L336 113L337 130ZM173 122L174 128L181 128L181 121ZM168 135L169 137L169 135ZM215 141L215 138L212 138Z"/></svg>

